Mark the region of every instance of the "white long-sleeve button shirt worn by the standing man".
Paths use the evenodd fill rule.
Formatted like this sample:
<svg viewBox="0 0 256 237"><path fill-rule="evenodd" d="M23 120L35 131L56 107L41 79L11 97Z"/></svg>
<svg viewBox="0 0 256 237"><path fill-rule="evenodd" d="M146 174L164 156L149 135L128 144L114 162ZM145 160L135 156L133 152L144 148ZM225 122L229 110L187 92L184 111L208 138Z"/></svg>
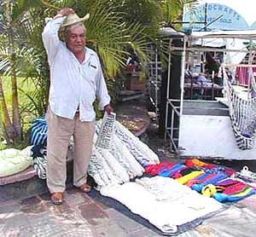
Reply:
<svg viewBox="0 0 256 237"><path fill-rule="evenodd" d="M81 121L96 119L93 102L98 99L103 110L110 102L98 55L84 48L85 59L80 63L58 31L65 17L49 19L42 34L50 67L49 107L58 116L73 119L79 107Z"/></svg>

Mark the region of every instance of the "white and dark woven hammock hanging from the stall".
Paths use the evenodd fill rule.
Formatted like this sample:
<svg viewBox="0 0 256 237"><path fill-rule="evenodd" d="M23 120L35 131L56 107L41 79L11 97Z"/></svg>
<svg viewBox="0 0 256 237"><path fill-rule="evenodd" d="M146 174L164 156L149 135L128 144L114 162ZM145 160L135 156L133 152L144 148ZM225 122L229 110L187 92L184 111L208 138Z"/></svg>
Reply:
<svg viewBox="0 0 256 237"><path fill-rule="evenodd" d="M241 150L252 149L256 138L256 97L247 100L239 97L229 81L224 66L222 68L236 144ZM249 73L249 77L251 78L252 90L254 90L255 82L252 72Z"/></svg>

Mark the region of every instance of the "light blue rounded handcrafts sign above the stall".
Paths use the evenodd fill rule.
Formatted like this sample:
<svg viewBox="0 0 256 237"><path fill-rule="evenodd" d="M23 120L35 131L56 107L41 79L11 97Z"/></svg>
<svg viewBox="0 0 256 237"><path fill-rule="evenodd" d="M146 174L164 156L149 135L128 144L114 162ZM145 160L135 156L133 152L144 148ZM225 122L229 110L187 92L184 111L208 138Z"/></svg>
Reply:
<svg viewBox="0 0 256 237"><path fill-rule="evenodd" d="M205 9L206 4L202 4L199 8L195 9L192 13L187 12L183 15L183 21L191 22L183 24L185 28L191 28L194 31L200 30L205 26ZM222 15L222 16L221 16ZM221 16L221 17L220 17ZM219 18L218 18L219 17ZM215 19L217 19L214 21ZM213 21L213 22L212 22ZM195 24L193 22L201 22L202 24ZM212 22L212 24L210 24ZM247 30L249 26L247 21L238 14L234 9L218 4L207 3L207 31L210 30Z"/></svg>

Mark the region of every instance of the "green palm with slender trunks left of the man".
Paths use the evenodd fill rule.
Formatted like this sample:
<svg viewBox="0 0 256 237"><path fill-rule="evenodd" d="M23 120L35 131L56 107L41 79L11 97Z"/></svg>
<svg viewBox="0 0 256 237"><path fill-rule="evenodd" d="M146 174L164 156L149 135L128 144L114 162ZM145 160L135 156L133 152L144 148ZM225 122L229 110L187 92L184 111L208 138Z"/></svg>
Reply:
<svg viewBox="0 0 256 237"><path fill-rule="evenodd" d="M44 47L41 42L41 29L43 20L40 18L40 11L27 9L32 6L24 6L21 3L26 1L5 1L1 4L3 12L3 26L5 31L1 36L0 46L0 72L11 76L12 87L12 113L9 113L1 86L1 113L4 137L7 142L19 142L21 139L20 117L24 113L32 113L37 117L44 113L49 87L49 75L44 55ZM32 15L34 13L34 15ZM44 18L44 17L43 17ZM40 20L38 20L40 19ZM40 22L42 24L40 25ZM22 91L30 102L20 105L18 102L17 76L25 78L24 83L34 84L34 90ZM2 85L2 80L1 80ZM19 94L20 94L19 93ZM12 114L12 122L9 118Z"/></svg>

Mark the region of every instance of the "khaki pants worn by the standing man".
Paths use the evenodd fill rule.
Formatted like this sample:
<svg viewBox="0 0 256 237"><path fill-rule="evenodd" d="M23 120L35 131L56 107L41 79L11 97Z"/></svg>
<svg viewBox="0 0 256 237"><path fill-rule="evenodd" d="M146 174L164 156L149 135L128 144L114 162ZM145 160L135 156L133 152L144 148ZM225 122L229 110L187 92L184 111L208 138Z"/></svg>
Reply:
<svg viewBox="0 0 256 237"><path fill-rule="evenodd" d="M67 179L67 147L74 138L73 185L81 186L87 179L92 152L95 122L81 122L79 117L66 119L50 109L46 114L47 136L47 186L49 192L64 192Z"/></svg>

